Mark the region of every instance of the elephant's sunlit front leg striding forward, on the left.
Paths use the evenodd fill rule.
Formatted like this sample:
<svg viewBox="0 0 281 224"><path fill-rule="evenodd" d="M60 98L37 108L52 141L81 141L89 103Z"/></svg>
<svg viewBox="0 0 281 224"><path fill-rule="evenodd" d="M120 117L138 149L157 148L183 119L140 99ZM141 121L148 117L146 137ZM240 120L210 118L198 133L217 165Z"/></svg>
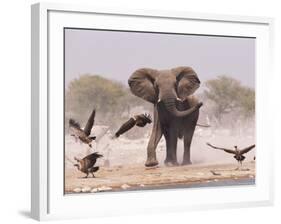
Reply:
<svg viewBox="0 0 281 224"><path fill-rule="evenodd" d="M150 139L147 146L147 160L145 162L145 166L157 166L158 161L156 158L156 147L162 137L161 125L158 117L158 112L154 109L154 123L152 133L150 135Z"/></svg>

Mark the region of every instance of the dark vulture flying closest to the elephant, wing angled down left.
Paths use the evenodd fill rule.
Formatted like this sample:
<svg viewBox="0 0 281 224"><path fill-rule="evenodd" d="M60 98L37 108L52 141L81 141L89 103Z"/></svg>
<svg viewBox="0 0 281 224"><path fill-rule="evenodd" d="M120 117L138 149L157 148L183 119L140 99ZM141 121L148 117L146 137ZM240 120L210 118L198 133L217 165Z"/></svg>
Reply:
<svg viewBox="0 0 281 224"><path fill-rule="evenodd" d="M146 124L150 124L151 122L152 120L150 114L144 113L133 116L119 128L119 130L115 133L115 137L118 138L120 135L124 134L135 125L138 127L144 127Z"/></svg>

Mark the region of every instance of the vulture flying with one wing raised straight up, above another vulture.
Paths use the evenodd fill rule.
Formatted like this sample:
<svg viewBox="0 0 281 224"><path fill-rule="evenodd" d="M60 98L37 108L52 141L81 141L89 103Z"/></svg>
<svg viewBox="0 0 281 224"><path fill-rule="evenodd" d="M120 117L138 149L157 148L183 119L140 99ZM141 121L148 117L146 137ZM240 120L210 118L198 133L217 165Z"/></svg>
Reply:
<svg viewBox="0 0 281 224"><path fill-rule="evenodd" d="M76 141L79 139L81 142L88 144L91 148L91 142L96 139L96 136L90 136L95 121L95 114L96 110L94 109L88 119L84 130L81 129L80 124L74 119L69 119L69 128L72 132L71 136L73 136Z"/></svg>

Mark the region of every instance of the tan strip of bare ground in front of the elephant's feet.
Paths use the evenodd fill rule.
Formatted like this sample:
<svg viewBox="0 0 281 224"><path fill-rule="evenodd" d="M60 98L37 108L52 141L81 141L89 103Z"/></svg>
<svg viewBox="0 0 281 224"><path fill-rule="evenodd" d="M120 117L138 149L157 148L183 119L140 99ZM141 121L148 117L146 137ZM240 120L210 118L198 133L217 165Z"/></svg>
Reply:
<svg viewBox="0 0 281 224"><path fill-rule="evenodd" d="M145 168L143 164L100 167L96 178L83 178L85 175L73 168L66 169L65 193L124 191L187 187L200 183L208 186L211 182L231 180L227 185L241 180L255 178L255 162L243 163L243 170L235 170L235 163L215 165L189 165L178 167L160 166ZM214 171L213 173L211 171Z"/></svg>

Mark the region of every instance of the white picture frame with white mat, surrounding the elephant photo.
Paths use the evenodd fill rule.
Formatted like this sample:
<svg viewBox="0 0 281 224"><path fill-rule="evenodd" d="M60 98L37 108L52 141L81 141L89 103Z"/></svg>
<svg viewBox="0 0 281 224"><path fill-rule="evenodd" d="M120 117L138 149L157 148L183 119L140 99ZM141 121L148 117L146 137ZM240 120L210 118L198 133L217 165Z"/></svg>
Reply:
<svg viewBox="0 0 281 224"><path fill-rule="evenodd" d="M32 5L31 214L37 220L247 207L273 203L270 86L273 19L38 3ZM63 194L63 27L251 36L256 43L255 186ZM187 28L183 28L187 27ZM266 148L267 150L263 150ZM61 149L61 150L60 150ZM116 206L118 203L118 206ZM79 205L79 206L77 206ZM80 205L83 205L83 209ZM94 211L94 212L93 212Z"/></svg>

